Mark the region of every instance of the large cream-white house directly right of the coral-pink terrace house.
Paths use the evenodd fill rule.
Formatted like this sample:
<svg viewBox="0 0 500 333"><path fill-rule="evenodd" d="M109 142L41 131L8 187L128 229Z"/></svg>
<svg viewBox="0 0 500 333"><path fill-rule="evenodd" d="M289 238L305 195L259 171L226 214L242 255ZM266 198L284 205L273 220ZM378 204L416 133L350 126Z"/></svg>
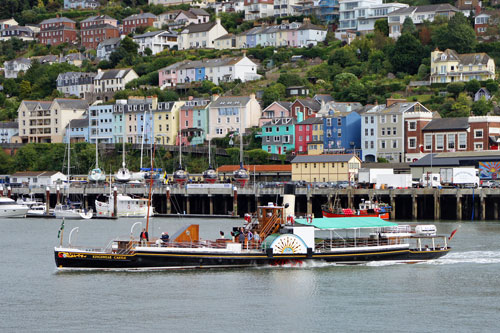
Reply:
<svg viewBox="0 0 500 333"><path fill-rule="evenodd" d="M208 115L207 139L222 138L230 132L244 132L259 125L262 109L255 94L246 96L214 96Z"/></svg>

